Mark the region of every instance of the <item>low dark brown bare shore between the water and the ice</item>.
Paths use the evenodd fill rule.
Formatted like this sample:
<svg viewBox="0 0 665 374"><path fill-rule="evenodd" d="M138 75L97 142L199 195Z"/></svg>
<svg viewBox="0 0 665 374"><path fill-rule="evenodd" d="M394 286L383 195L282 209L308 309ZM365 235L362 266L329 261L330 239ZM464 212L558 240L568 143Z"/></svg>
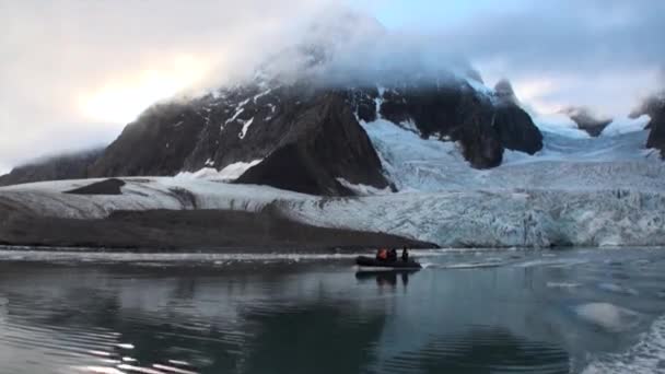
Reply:
<svg viewBox="0 0 665 374"><path fill-rule="evenodd" d="M365 231L319 227L271 209L115 211L104 219L14 214L0 224L0 246L117 253L324 253L378 247L436 248L421 242Z"/></svg>

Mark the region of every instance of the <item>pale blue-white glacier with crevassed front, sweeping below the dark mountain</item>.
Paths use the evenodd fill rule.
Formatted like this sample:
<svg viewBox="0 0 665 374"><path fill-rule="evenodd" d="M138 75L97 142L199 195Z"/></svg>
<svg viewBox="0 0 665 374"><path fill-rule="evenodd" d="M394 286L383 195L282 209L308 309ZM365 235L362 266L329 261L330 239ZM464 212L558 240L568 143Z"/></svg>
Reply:
<svg viewBox="0 0 665 374"><path fill-rule="evenodd" d="M423 139L382 118L361 124L397 192L339 180L362 196L332 198L226 183L256 160L223 173L122 178L116 196L62 194L103 179L2 187L0 206L79 219L116 210L270 207L306 224L442 247L665 245L665 164L644 149L648 131L639 121L623 124L598 138L546 126L540 152L506 151L501 166L482 171L467 164L455 142Z"/></svg>

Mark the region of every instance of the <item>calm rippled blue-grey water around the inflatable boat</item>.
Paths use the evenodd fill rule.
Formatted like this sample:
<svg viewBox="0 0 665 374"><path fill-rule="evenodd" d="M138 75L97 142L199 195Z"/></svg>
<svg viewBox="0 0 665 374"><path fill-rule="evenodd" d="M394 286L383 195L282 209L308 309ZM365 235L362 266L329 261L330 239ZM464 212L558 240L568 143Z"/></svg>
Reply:
<svg viewBox="0 0 665 374"><path fill-rule="evenodd" d="M0 374L665 367L658 250L352 257L0 250Z"/></svg>

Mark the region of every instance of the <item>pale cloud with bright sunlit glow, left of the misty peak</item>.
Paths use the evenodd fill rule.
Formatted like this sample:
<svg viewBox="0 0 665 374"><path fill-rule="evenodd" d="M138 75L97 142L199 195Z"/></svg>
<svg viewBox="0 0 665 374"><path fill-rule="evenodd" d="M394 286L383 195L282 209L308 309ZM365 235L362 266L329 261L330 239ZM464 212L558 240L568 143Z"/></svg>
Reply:
<svg viewBox="0 0 665 374"><path fill-rule="evenodd" d="M0 0L0 168L110 142L144 106L213 72L233 75L234 54L261 55L324 7L331 1Z"/></svg>

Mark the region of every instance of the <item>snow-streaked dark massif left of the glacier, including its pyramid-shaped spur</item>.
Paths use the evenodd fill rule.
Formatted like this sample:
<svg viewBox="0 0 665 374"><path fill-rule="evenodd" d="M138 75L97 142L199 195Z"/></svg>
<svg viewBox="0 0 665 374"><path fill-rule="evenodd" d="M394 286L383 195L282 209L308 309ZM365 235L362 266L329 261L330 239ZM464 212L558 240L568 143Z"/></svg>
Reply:
<svg viewBox="0 0 665 374"><path fill-rule="evenodd" d="M259 159L238 183L331 196L351 195L337 178L388 186L346 96L296 85L158 106L125 129L92 175L174 175Z"/></svg>

